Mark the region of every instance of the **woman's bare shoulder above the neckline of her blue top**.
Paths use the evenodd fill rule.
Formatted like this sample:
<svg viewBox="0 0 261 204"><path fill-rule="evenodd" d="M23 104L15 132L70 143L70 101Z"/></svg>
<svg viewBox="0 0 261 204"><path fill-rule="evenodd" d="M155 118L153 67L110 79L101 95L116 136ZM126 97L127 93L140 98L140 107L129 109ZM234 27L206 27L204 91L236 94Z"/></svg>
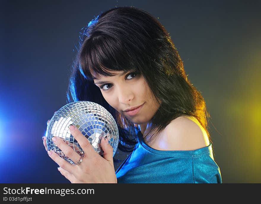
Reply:
<svg viewBox="0 0 261 204"><path fill-rule="evenodd" d="M192 116L180 116L160 134L152 148L158 150L196 150L209 145L205 129Z"/></svg>

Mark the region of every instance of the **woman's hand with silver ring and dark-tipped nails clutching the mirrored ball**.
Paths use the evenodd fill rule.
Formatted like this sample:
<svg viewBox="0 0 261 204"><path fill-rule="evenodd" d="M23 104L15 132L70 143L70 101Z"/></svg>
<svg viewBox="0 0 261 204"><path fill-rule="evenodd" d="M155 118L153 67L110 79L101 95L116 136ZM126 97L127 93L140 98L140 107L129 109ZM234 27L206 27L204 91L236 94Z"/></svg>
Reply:
<svg viewBox="0 0 261 204"><path fill-rule="evenodd" d="M71 134L78 141L85 153L82 162L73 165L58 156L54 151L49 150L48 155L60 167L58 170L71 183L117 183L113 166L113 148L105 138L101 139L101 148L104 151L101 157L90 144L89 140L75 126L69 126ZM47 150L46 137L43 137L44 146ZM52 137L52 141L60 148L66 156L74 163L77 163L81 156L67 145L61 138Z"/></svg>

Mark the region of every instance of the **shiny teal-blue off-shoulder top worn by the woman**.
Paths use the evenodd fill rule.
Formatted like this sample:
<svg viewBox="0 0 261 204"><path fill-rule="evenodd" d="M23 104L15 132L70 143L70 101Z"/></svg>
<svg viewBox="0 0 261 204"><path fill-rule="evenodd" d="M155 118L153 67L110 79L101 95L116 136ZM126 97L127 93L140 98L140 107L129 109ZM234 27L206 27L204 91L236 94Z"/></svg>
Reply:
<svg viewBox="0 0 261 204"><path fill-rule="evenodd" d="M141 131L137 139L115 172L118 183L222 183L211 143L196 150L162 151L149 147Z"/></svg>

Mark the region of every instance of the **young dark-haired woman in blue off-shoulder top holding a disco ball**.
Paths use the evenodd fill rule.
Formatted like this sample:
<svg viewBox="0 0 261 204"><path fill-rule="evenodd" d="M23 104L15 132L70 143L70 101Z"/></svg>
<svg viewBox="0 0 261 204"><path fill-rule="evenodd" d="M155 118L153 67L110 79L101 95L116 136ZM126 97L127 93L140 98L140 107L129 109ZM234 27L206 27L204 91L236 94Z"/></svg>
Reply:
<svg viewBox="0 0 261 204"><path fill-rule="evenodd" d="M90 21L81 34L69 102L105 107L118 124L118 148L131 153L115 172L106 138L101 157L71 125L85 156L53 137L77 164L48 151L61 174L72 183L221 183L204 99L163 25L141 9L117 7Z"/></svg>

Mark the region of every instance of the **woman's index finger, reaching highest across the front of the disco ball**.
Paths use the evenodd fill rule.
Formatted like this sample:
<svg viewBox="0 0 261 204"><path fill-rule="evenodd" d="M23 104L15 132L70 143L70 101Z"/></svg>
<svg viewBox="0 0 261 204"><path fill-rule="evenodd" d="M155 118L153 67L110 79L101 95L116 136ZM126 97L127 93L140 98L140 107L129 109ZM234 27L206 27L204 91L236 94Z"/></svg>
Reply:
<svg viewBox="0 0 261 204"><path fill-rule="evenodd" d="M97 156L96 151L93 149L93 146L90 144L89 140L82 135L78 128L74 125L69 125L69 130L84 151L85 157L92 158L93 156Z"/></svg>

